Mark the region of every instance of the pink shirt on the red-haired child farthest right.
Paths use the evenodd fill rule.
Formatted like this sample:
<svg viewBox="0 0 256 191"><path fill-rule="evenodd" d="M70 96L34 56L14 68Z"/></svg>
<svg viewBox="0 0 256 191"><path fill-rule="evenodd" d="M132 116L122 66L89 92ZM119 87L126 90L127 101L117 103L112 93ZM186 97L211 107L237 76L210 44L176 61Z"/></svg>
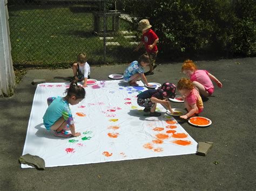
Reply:
<svg viewBox="0 0 256 191"><path fill-rule="evenodd" d="M199 83L201 83L206 90L213 88L214 86L212 84L212 81L210 79L210 77L208 76L208 72L207 70L201 70L198 69L196 71L194 71L194 73L190 76L190 80L193 81L197 81Z"/></svg>

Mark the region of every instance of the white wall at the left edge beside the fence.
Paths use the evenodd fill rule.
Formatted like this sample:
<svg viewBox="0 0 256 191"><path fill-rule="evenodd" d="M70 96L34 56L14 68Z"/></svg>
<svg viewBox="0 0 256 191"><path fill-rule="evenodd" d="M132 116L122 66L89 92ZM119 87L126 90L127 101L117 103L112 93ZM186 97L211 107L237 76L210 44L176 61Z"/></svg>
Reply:
<svg viewBox="0 0 256 191"><path fill-rule="evenodd" d="M0 0L0 97L13 95L15 86L8 20L7 0Z"/></svg>

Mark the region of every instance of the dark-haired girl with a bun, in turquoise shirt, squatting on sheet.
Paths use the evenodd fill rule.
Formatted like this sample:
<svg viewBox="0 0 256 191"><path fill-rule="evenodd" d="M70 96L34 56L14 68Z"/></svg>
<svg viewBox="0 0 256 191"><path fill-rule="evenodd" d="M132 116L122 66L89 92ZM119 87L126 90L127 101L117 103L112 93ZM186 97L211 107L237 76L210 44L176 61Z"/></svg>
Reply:
<svg viewBox="0 0 256 191"><path fill-rule="evenodd" d="M47 103L49 107L44 114L44 126L47 130L53 130L56 137L77 137L81 133L76 132L73 117L69 104L76 105L85 97L84 88L73 81L66 89L65 97L49 97ZM65 130L70 130L71 134Z"/></svg>

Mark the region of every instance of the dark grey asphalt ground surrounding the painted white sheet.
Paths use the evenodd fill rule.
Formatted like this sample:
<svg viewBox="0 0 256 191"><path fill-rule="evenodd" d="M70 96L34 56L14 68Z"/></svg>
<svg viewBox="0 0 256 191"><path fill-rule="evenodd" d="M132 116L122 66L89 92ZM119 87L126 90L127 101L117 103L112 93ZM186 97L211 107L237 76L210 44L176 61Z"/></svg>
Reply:
<svg viewBox="0 0 256 191"><path fill-rule="evenodd" d="M255 190L255 66L256 58L197 61L222 83L204 102L200 116L212 125L181 126L197 142L213 142L206 157L197 154L98 164L22 169L18 162L36 86L33 79L66 82L72 69L31 69L15 88L15 95L0 98L0 190ZM159 63L158 63L159 64ZM158 65L149 82L177 84L182 63ZM110 80L127 65L91 66L91 77ZM214 84L215 85L215 84ZM173 103L179 107L180 103Z"/></svg>

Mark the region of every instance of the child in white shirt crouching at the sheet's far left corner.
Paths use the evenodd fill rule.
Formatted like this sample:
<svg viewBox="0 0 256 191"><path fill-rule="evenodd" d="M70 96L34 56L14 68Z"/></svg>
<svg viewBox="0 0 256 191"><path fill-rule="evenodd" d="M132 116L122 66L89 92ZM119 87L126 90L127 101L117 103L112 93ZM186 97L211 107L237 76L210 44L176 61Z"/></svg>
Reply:
<svg viewBox="0 0 256 191"><path fill-rule="evenodd" d="M73 63L73 74L76 81L83 81L83 87L87 87L87 79L90 78L90 66L86 62L86 54L80 53L77 56L77 63Z"/></svg>

